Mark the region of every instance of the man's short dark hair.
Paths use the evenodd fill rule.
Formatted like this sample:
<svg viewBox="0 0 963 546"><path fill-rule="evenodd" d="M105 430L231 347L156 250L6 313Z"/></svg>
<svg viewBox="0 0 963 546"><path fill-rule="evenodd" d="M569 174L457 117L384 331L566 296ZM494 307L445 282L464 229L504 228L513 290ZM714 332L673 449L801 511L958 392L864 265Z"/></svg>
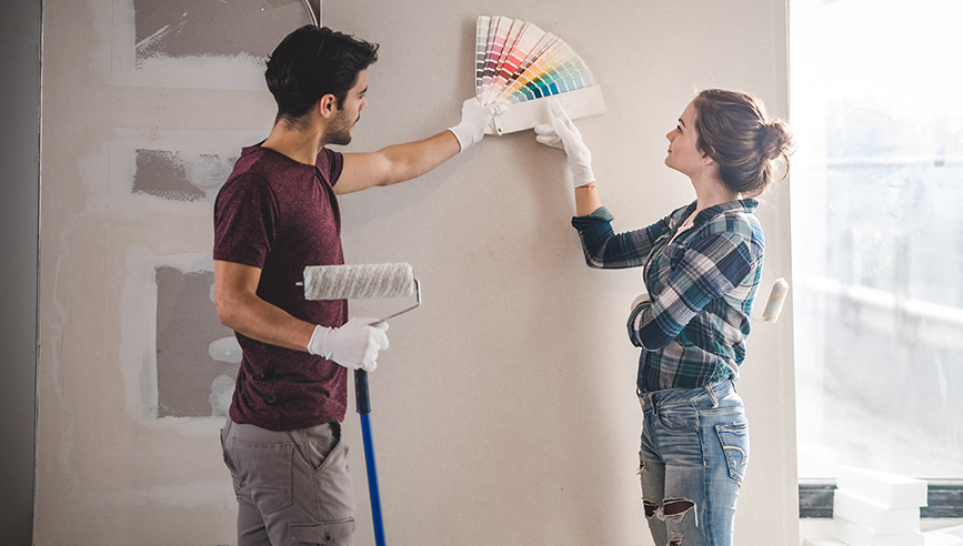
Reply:
<svg viewBox="0 0 963 546"><path fill-rule="evenodd" d="M325 94L341 103L358 74L378 60L378 44L305 24L288 34L268 59L264 79L279 120L294 122Z"/></svg>

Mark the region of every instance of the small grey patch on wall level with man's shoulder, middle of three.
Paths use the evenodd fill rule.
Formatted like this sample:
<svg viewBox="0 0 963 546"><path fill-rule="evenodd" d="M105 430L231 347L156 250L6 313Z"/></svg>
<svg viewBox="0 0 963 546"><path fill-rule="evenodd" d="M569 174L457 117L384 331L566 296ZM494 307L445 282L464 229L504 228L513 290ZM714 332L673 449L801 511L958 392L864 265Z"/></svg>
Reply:
<svg viewBox="0 0 963 546"><path fill-rule="evenodd" d="M131 191L173 201L213 201L235 161L212 154L141 149L137 151Z"/></svg>

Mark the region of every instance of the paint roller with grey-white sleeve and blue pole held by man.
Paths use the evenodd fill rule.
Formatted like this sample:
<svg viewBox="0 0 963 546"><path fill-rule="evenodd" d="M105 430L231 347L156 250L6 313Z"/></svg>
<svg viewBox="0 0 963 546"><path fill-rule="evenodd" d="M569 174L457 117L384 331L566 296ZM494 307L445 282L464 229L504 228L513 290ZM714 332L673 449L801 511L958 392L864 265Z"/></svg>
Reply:
<svg viewBox="0 0 963 546"><path fill-rule="evenodd" d="M305 300L354 300L360 297L398 297L415 293L415 304L385 316L372 325L408 313L421 305L421 284L407 263L362 265L309 265L304 267ZM381 517L381 497L378 492L378 469L374 465L374 443L371 439L371 400L368 395L368 372L354 371L354 401L361 416L364 438L364 463L368 467L368 493L371 496L371 518L374 543L384 546L384 524Z"/></svg>

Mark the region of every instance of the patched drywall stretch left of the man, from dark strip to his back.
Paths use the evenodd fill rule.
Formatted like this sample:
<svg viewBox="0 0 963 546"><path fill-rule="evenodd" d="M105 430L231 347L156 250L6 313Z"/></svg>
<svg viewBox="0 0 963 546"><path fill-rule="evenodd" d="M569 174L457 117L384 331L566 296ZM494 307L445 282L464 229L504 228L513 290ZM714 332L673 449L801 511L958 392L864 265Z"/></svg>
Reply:
<svg viewBox="0 0 963 546"><path fill-rule="evenodd" d="M138 63L133 1L44 4L38 545L235 542L218 429L239 350L211 300L212 202L273 120L263 43L309 18L193 3L193 22L238 6L223 19L261 44L218 49L214 18Z"/></svg>

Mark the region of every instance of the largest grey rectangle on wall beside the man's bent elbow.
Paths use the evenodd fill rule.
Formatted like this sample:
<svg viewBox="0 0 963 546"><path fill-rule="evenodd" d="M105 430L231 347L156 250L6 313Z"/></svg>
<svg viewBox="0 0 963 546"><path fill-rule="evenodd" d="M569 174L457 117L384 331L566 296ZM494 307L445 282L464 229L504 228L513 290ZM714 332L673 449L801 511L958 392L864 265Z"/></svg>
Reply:
<svg viewBox="0 0 963 546"><path fill-rule="evenodd" d="M238 364L209 352L213 342L233 335L208 297L214 274L170 266L156 274L158 417L225 415Z"/></svg>

